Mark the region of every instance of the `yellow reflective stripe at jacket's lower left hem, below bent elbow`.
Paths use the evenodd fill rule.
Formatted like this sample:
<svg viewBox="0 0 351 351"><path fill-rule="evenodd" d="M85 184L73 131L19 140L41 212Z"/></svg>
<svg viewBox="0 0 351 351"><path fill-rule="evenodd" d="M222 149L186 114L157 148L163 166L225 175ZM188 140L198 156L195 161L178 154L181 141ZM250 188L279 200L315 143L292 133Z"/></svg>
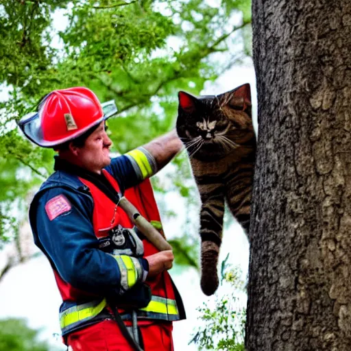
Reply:
<svg viewBox="0 0 351 351"><path fill-rule="evenodd" d="M104 309L105 306L106 299L102 300L97 305L94 302L91 302L88 304L77 305L66 309L66 311L60 313L61 329L66 328L66 326L82 321L84 319L93 318L97 316Z"/></svg>

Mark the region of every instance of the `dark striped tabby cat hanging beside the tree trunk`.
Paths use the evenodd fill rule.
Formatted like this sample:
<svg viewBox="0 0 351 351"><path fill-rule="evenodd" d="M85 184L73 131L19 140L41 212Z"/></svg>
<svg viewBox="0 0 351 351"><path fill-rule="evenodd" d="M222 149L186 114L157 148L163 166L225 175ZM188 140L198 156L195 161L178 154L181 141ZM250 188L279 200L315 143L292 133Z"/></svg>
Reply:
<svg viewBox="0 0 351 351"><path fill-rule="evenodd" d="M217 96L178 94L178 136L191 161L202 201L201 288L217 290L224 202L248 231L256 136L252 125L250 84Z"/></svg>

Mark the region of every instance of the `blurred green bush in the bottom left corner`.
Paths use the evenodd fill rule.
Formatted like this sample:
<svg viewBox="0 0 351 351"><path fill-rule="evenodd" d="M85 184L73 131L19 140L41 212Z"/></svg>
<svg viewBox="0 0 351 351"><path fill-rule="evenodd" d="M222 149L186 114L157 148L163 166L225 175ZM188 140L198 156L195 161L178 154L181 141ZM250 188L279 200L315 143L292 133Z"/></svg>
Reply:
<svg viewBox="0 0 351 351"><path fill-rule="evenodd" d="M23 319L0 321L0 350L53 351L45 342L38 341L38 330L32 330Z"/></svg>

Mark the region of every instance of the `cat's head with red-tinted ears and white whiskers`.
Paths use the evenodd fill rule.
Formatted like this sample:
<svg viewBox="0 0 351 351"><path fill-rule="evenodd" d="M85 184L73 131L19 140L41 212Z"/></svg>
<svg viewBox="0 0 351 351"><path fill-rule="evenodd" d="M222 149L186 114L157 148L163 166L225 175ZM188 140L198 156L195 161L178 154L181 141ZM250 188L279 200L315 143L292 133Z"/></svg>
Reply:
<svg viewBox="0 0 351 351"><path fill-rule="evenodd" d="M215 152L228 154L252 141L250 84L227 93L195 97L178 94L177 132L191 156Z"/></svg>

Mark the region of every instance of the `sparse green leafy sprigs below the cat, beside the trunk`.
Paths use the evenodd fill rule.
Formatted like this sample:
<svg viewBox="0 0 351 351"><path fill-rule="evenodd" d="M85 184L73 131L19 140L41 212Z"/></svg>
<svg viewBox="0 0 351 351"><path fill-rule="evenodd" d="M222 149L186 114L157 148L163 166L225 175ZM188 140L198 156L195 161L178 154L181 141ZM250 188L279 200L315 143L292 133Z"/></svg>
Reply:
<svg viewBox="0 0 351 351"><path fill-rule="evenodd" d="M245 351L246 311L235 305L236 294L243 291L244 282L239 278L239 269L227 264L228 256L221 263L221 286L215 293L215 305L204 302L197 308L202 324L190 343L195 343L199 350ZM230 293L222 294L225 289L230 289Z"/></svg>

